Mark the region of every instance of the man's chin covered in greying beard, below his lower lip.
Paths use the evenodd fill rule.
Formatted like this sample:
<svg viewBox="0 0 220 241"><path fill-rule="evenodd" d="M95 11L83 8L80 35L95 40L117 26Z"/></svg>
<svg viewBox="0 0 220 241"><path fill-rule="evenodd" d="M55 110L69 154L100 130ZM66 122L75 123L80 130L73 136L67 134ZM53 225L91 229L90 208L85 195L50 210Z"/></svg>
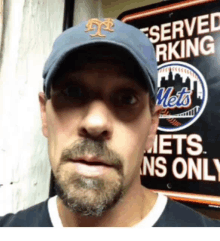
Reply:
<svg viewBox="0 0 220 241"><path fill-rule="evenodd" d="M123 196L123 178L114 181L74 175L69 179L55 180L57 195L73 213L100 217L113 208Z"/></svg>

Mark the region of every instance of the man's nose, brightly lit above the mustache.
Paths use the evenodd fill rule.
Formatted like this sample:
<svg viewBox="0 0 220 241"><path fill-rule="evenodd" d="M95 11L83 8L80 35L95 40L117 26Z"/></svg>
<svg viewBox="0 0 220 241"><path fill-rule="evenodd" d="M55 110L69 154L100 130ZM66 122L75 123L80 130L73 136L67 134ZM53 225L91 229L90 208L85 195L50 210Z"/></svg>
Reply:
<svg viewBox="0 0 220 241"><path fill-rule="evenodd" d="M91 139L108 140L112 136L112 116L103 101L93 101L83 112L79 135Z"/></svg>

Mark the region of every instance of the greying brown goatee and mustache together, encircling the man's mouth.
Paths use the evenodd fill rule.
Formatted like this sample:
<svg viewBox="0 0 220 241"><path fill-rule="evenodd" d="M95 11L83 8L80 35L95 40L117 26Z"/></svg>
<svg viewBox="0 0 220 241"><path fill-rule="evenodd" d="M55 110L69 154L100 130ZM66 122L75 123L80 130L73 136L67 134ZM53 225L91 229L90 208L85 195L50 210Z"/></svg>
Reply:
<svg viewBox="0 0 220 241"><path fill-rule="evenodd" d="M87 177L65 167L69 159L92 154L112 166L111 175ZM100 217L124 196L123 159L103 142L83 140L62 152L54 174L55 190L63 204L81 216Z"/></svg>

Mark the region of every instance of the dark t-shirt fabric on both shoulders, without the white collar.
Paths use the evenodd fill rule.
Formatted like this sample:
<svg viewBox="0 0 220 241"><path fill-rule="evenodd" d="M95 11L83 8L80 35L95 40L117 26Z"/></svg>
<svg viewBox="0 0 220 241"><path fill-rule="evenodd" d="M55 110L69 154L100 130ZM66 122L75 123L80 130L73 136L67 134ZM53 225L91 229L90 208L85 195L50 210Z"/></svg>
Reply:
<svg viewBox="0 0 220 241"><path fill-rule="evenodd" d="M53 227L48 199L16 214L0 217L0 227ZM212 220L168 198L162 215L153 227L220 227L220 220Z"/></svg>

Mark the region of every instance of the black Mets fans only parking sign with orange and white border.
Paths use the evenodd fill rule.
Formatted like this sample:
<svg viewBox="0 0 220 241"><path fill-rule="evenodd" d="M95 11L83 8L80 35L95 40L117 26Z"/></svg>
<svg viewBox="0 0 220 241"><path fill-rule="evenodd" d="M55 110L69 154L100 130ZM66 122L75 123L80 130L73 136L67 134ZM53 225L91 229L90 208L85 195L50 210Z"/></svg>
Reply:
<svg viewBox="0 0 220 241"><path fill-rule="evenodd" d="M170 198L220 208L220 3L166 1L118 19L154 45L163 107L142 184Z"/></svg>

